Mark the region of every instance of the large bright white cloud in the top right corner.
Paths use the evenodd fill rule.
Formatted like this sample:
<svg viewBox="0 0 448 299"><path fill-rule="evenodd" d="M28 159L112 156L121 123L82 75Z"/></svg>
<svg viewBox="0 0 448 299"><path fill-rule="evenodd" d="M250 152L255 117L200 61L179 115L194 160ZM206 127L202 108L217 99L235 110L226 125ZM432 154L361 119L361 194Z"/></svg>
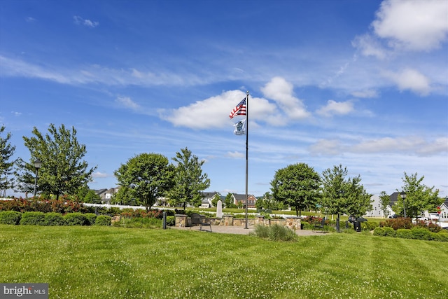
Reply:
<svg viewBox="0 0 448 299"><path fill-rule="evenodd" d="M386 0L381 3L372 27L393 48L432 50L447 39L447 16L448 5L444 0Z"/></svg>

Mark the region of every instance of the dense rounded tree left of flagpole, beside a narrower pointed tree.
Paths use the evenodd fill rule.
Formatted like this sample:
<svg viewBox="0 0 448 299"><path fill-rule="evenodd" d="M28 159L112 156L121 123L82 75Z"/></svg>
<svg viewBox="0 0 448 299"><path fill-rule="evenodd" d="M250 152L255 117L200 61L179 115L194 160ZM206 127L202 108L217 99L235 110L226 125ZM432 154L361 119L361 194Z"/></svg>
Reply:
<svg viewBox="0 0 448 299"><path fill-rule="evenodd" d="M172 172L173 167L165 155L141 153L127 160L114 174L121 186L120 196L139 200L148 211L158 197L172 188ZM125 189L121 191L122 188Z"/></svg>

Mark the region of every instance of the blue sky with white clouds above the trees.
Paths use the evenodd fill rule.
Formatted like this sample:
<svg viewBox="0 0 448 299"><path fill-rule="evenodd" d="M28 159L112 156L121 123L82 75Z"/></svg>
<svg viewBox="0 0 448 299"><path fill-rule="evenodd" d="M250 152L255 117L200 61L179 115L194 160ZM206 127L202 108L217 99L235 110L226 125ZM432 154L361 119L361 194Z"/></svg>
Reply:
<svg viewBox="0 0 448 299"><path fill-rule="evenodd" d="M448 2L10 1L0 5L0 124L74 126L94 189L139 153L205 160L210 191L342 164L367 192L404 172L448 195Z"/></svg>

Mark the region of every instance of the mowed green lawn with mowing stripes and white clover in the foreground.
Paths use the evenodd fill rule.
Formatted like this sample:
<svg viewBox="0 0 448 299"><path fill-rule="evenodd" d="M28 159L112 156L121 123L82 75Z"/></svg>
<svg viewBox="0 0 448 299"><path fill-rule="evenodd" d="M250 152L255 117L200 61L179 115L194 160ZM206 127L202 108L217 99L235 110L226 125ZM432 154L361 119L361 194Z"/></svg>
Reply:
<svg viewBox="0 0 448 299"><path fill-rule="evenodd" d="M447 298L448 244L0 225L0 282L50 298Z"/></svg>

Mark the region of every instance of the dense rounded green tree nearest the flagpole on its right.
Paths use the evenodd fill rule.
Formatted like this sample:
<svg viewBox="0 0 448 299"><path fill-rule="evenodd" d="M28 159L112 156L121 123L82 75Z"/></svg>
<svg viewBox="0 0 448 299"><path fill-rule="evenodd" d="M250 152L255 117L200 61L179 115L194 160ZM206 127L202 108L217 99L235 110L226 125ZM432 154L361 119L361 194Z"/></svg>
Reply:
<svg viewBox="0 0 448 299"><path fill-rule="evenodd" d="M295 207L296 216L302 210L314 207L321 178L312 167L305 163L289 165L275 172L271 181L274 200Z"/></svg>

